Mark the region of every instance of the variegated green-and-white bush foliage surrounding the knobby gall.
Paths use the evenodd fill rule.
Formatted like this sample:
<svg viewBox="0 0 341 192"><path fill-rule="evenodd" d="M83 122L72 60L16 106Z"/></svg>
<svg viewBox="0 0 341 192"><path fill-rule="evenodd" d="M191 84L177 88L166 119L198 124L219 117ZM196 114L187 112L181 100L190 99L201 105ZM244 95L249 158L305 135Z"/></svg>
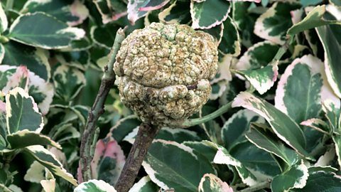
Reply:
<svg viewBox="0 0 341 192"><path fill-rule="evenodd" d="M131 192L341 191L337 0L1 1L0 191L115 191L144 126L108 66L153 22L210 33L218 68L202 109L150 138Z"/></svg>

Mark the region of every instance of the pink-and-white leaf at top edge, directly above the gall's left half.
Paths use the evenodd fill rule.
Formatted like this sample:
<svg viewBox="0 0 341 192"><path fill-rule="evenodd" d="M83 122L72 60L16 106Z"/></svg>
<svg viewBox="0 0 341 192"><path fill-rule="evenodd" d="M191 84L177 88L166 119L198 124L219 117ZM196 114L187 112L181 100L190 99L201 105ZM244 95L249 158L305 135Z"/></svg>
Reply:
<svg viewBox="0 0 341 192"><path fill-rule="evenodd" d="M146 16L147 11L161 9L168 4L170 0L129 0L128 3L128 19L131 23L135 23L139 18Z"/></svg>

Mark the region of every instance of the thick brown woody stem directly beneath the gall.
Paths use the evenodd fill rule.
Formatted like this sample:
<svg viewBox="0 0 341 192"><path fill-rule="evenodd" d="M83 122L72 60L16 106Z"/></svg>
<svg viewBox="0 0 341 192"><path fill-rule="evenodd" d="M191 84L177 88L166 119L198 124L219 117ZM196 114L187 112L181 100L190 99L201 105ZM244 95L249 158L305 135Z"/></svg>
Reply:
<svg viewBox="0 0 341 192"><path fill-rule="evenodd" d="M126 164L119 176L115 189L119 192L127 192L133 186L135 178L139 173L142 161L147 154L153 139L158 134L159 127L142 123L136 135L135 142L131 147Z"/></svg>

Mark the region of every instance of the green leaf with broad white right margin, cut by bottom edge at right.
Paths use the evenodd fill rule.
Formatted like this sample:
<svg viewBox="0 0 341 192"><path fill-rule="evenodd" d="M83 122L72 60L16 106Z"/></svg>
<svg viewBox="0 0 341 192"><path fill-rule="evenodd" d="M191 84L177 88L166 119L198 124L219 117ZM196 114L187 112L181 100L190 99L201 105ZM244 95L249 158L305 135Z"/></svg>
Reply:
<svg viewBox="0 0 341 192"><path fill-rule="evenodd" d="M271 190L274 192L289 191L291 188L303 188L308 179L308 168L303 164L292 166L288 171L274 177Z"/></svg>

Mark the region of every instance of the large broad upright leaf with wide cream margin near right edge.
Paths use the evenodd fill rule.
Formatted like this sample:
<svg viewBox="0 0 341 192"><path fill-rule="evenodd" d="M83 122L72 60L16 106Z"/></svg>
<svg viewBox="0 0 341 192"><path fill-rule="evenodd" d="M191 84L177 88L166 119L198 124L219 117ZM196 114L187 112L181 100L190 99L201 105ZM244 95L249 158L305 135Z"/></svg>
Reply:
<svg viewBox="0 0 341 192"><path fill-rule="evenodd" d="M313 55L293 60L278 82L275 107L301 123L318 117L322 110L321 102L325 100L332 100L340 107L340 99L328 85L322 61Z"/></svg>

